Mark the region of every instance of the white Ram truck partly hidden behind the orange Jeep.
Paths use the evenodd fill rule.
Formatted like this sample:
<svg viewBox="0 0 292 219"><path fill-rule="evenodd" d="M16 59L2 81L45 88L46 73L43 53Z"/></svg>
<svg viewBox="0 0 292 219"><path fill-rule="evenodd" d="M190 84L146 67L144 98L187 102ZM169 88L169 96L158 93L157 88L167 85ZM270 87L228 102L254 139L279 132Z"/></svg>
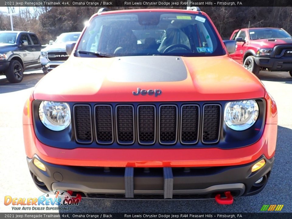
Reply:
<svg viewBox="0 0 292 219"><path fill-rule="evenodd" d="M50 43L40 52L40 62L44 74L66 61L69 55L66 53L66 43L76 42L81 32L62 33L57 40Z"/></svg>

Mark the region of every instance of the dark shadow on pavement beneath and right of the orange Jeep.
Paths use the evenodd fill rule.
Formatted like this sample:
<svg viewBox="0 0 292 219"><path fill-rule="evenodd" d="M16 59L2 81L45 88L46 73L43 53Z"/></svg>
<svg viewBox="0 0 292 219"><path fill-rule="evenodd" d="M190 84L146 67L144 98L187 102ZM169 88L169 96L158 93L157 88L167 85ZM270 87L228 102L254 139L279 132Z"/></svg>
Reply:
<svg viewBox="0 0 292 219"><path fill-rule="evenodd" d="M260 212L263 203L281 203L281 212L291 212L292 185L292 129L278 126L275 163L266 187L257 195L238 197L231 205L215 200L106 200L82 198L78 206L59 213L92 212ZM231 176L232 177L232 176ZM68 206L63 206L68 207Z"/></svg>

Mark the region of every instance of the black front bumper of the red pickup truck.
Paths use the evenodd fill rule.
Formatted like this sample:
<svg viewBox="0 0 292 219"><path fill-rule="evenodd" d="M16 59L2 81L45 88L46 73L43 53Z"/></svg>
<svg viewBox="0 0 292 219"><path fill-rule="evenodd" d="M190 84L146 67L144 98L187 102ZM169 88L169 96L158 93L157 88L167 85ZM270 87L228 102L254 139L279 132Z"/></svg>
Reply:
<svg viewBox="0 0 292 219"><path fill-rule="evenodd" d="M288 58L255 57L255 63L262 68L267 68L269 71L292 71L292 57Z"/></svg>

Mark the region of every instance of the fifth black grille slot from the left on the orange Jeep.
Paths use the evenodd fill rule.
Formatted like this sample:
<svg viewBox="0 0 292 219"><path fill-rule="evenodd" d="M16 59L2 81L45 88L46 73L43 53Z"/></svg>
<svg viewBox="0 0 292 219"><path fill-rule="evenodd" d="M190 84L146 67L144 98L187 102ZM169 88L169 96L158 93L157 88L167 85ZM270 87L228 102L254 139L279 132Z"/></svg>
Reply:
<svg viewBox="0 0 292 219"><path fill-rule="evenodd" d="M177 106L162 105L159 107L159 142L175 144L177 141Z"/></svg>

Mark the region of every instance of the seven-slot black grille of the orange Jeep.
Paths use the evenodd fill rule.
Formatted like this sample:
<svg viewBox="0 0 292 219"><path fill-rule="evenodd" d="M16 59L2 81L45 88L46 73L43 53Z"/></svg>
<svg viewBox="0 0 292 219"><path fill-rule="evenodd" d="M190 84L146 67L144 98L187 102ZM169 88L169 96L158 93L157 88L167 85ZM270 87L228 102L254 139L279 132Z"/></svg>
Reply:
<svg viewBox="0 0 292 219"><path fill-rule="evenodd" d="M188 145L199 141L215 144L220 138L219 104L96 104L91 107L87 104L73 107L78 143L91 144L93 136L101 145L116 141L121 145L137 142L145 146L178 142Z"/></svg>

